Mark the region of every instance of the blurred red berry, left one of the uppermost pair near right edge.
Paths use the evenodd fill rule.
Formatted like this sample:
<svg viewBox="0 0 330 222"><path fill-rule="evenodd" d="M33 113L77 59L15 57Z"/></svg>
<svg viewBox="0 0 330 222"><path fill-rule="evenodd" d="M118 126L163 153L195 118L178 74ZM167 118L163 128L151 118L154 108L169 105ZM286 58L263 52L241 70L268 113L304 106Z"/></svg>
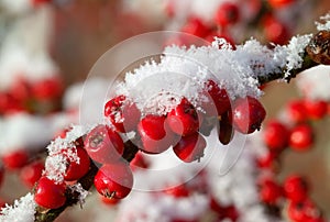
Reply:
<svg viewBox="0 0 330 222"><path fill-rule="evenodd" d="M287 115L290 121L300 123L307 120L307 110L301 100L289 101L286 107Z"/></svg>

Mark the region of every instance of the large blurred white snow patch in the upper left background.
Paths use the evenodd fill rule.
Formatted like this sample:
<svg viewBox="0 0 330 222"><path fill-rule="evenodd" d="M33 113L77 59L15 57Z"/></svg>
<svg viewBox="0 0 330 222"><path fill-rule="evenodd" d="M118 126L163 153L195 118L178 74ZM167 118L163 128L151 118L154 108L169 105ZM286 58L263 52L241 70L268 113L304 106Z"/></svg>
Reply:
<svg viewBox="0 0 330 222"><path fill-rule="evenodd" d="M47 53L52 21L50 9L40 8L11 22L1 40L0 90L10 88L18 77L35 82L58 75L59 69Z"/></svg>

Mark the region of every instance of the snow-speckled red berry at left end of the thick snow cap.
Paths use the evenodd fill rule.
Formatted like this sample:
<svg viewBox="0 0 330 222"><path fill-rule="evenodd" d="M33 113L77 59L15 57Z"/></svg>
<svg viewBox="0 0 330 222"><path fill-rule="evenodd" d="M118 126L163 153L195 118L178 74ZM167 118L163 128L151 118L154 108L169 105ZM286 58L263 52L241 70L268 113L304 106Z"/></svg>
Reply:
<svg viewBox="0 0 330 222"><path fill-rule="evenodd" d="M106 103L105 115L118 132L125 133L136 129L141 112L134 102L128 101L125 96L121 95Z"/></svg>

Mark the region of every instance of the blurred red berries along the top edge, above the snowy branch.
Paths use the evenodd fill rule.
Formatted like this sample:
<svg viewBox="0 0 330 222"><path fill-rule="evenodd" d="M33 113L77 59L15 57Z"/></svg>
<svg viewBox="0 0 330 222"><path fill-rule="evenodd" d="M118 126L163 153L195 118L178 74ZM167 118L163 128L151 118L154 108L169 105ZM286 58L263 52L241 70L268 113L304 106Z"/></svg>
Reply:
<svg viewBox="0 0 330 222"><path fill-rule="evenodd" d="M289 29L276 16L274 11L279 8L288 7L294 2L295 0L268 0L267 2L255 0L250 2L250 7L252 7L254 11L257 11L255 15L257 20L255 19L251 22L253 25L255 25L254 22L258 22L257 26L261 27L266 41L280 45L287 43L290 37ZM173 10L170 10L170 4L168 9L168 13L172 15ZM240 10L237 2L222 2L218 7L210 24L206 24L201 19L194 16L188 19L180 31L205 38L208 42L212 42L215 36L223 37L231 45L234 45L229 29L241 21L242 15Z"/></svg>

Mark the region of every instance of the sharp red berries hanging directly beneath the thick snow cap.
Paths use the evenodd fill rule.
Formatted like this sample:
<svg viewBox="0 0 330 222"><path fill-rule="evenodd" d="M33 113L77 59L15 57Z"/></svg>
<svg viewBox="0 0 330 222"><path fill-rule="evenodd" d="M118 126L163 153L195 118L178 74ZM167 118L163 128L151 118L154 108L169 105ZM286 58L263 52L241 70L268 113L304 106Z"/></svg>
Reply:
<svg viewBox="0 0 330 222"><path fill-rule="evenodd" d="M216 125L220 126L220 142L228 144L233 130L245 134L253 133L260 129L265 118L266 112L257 99L239 98L231 104L227 90L213 80L206 82L202 93L209 97L209 101L204 102L201 109L197 109L183 97L175 108L163 115L142 115L134 102L124 96L117 96L106 103L105 115L117 133L135 131L135 142L141 151L160 154L173 146L174 153L186 163L204 156L207 145L204 136L208 136ZM108 131L114 133L110 129ZM122 154L121 146L116 151L119 155ZM103 159L90 155L102 163ZM108 158L103 154L100 157Z"/></svg>

